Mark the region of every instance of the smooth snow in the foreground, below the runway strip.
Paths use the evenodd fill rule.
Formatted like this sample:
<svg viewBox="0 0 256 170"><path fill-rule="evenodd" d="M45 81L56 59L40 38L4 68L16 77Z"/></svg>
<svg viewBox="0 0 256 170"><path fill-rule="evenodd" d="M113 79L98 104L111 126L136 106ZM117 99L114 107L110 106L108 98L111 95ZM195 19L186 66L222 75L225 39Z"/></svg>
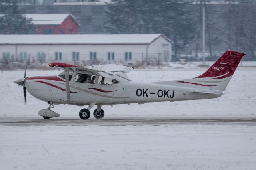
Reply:
<svg viewBox="0 0 256 170"><path fill-rule="evenodd" d="M0 126L0 138L1 170L256 167L256 126Z"/></svg>

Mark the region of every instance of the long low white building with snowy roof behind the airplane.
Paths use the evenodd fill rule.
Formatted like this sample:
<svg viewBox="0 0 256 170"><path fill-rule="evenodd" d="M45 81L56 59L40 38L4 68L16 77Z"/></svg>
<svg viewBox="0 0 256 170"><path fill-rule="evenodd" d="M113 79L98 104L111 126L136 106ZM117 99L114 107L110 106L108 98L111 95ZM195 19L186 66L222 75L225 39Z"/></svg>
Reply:
<svg viewBox="0 0 256 170"><path fill-rule="evenodd" d="M0 35L2 61L168 62L171 50L163 34Z"/></svg>

